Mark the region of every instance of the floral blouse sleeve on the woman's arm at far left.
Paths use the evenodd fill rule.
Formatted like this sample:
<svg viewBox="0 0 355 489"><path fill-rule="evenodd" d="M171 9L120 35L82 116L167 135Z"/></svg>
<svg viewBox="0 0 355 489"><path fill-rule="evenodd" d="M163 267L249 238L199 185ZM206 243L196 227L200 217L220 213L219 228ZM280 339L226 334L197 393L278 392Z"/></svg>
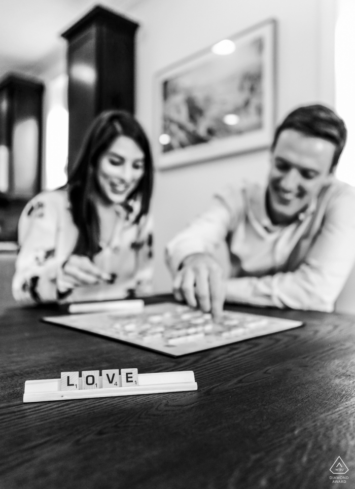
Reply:
<svg viewBox="0 0 355 489"><path fill-rule="evenodd" d="M23 304L56 300L56 257L59 216L50 192L30 200L18 225L20 251L12 283L14 298Z"/></svg>

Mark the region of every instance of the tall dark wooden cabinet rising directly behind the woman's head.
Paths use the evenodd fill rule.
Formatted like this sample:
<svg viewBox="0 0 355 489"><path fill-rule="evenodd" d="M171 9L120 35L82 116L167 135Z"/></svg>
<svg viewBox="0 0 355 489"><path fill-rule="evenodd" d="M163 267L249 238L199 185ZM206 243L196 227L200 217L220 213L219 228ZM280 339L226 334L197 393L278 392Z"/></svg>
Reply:
<svg viewBox="0 0 355 489"><path fill-rule="evenodd" d="M107 109L134 112L137 27L98 6L62 34L68 42L69 169L97 114Z"/></svg>

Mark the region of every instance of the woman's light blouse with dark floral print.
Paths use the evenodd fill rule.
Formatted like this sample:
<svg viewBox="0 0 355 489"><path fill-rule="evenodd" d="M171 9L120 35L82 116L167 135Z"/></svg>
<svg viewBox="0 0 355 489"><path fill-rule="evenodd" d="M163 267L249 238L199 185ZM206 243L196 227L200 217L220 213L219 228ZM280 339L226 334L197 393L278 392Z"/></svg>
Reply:
<svg viewBox="0 0 355 489"><path fill-rule="evenodd" d="M30 304L114 300L150 294L153 279L152 220L150 216L143 216L135 224L139 203L130 203L131 212L121 205L115 206L116 220L111 237L107 242L100 241L100 251L93 258L95 265L111 274L110 283L75 287L62 297L57 281L78 237L67 193L63 189L47 191L30 200L19 220L20 251L12 283L14 298ZM105 214L101 210L98 205L100 227L107 229L108 224L103 222Z"/></svg>

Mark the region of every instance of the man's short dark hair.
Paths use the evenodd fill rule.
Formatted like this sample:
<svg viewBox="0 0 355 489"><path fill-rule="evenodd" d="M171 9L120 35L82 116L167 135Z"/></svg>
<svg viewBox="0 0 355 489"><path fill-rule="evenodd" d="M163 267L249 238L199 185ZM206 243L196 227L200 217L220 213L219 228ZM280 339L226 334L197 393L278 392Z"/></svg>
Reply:
<svg viewBox="0 0 355 489"><path fill-rule="evenodd" d="M345 146L347 130L344 121L331 109L318 103L292 111L276 128L271 151L275 149L278 136L286 129L293 129L306 136L320 137L333 143L335 152L330 169L338 164Z"/></svg>

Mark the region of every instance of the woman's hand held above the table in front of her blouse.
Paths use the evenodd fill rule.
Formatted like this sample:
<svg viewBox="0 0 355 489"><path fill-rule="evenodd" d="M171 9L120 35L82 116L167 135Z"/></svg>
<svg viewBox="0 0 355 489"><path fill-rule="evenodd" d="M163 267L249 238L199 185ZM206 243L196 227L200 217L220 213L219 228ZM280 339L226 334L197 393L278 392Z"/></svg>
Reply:
<svg viewBox="0 0 355 489"><path fill-rule="evenodd" d="M110 273L101 271L87 256L70 255L61 267L57 286L63 291L110 280Z"/></svg>

